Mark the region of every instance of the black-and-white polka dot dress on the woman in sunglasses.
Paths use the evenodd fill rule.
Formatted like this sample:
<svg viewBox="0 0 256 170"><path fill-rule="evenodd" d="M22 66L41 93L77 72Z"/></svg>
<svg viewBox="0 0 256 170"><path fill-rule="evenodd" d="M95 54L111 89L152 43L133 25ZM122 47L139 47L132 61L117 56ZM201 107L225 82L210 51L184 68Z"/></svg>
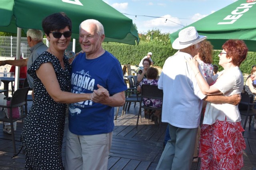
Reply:
<svg viewBox="0 0 256 170"><path fill-rule="evenodd" d="M62 91L70 91L70 65L64 57L65 70L60 61L45 51L28 69L34 78L34 102L24 122L22 144L25 149L25 170L63 170L62 140L64 133L66 104L54 102L44 85L36 76L43 63L52 63Z"/></svg>

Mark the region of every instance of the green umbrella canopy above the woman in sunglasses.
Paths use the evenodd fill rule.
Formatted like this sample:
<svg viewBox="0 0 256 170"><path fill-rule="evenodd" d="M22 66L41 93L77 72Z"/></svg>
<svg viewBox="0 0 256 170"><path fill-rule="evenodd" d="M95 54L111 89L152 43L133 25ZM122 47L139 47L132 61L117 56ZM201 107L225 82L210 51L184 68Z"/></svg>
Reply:
<svg viewBox="0 0 256 170"><path fill-rule="evenodd" d="M72 20L72 38L78 39L82 21L95 19L104 26L105 41L139 43L132 20L102 0L1 0L0 31L17 33L17 27L42 30L42 19L56 12L65 12Z"/></svg>

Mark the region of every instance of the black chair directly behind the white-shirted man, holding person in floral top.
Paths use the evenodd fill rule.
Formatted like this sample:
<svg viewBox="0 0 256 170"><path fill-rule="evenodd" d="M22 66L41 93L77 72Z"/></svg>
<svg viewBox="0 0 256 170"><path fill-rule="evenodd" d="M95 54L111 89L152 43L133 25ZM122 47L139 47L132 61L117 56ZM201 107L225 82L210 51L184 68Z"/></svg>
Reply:
<svg viewBox="0 0 256 170"><path fill-rule="evenodd" d="M149 99L161 99L163 100L163 90L158 89L158 86L155 85L148 85L148 84L143 84L141 88L141 100L140 100L140 109L138 113L138 118L137 118L137 123L136 127L138 126L138 121L140 118L140 123L141 123L141 109L148 109L148 110L160 110L162 111L162 107L149 107L145 106L143 104L143 98L149 98ZM149 123L150 116L148 115L148 123ZM161 116L159 120L159 125L161 124Z"/></svg>

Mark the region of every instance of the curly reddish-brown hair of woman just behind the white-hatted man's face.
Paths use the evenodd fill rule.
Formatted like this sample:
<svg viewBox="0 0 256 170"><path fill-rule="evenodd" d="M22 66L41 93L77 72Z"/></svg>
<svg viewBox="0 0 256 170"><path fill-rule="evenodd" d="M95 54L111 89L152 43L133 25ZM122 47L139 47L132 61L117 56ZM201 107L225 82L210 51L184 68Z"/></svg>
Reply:
<svg viewBox="0 0 256 170"><path fill-rule="evenodd" d="M204 63L212 64L213 46L210 41L202 41L198 53L200 60L202 60Z"/></svg>

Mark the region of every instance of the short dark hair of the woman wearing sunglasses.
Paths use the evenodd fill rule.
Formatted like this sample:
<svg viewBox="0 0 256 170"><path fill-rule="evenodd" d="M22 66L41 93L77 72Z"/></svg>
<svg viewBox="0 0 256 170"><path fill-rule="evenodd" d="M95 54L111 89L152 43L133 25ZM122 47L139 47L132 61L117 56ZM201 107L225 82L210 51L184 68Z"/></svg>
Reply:
<svg viewBox="0 0 256 170"><path fill-rule="evenodd" d="M49 36L51 31L59 31L68 26L69 31L72 31L72 21L64 12L54 13L50 16L47 16L42 21L42 27L44 33Z"/></svg>

